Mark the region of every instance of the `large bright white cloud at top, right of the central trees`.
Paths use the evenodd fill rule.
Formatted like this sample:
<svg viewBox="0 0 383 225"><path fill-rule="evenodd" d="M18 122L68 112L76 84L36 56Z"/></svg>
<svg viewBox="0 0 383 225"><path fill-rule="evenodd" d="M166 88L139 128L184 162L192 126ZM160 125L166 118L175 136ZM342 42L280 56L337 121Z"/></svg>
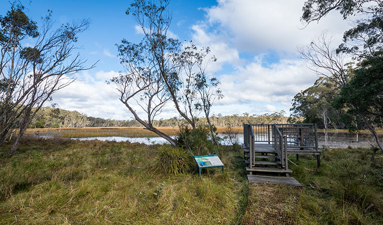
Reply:
<svg viewBox="0 0 383 225"><path fill-rule="evenodd" d="M295 51L308 44L324 29L334 32L340 41L350 27L338 11L330 12L316 24L302 29L300 22L304 0L218 0L218 5L205 8L206 23L218 24L216 32L228 35L234 45L245 51Z"/></svg>

